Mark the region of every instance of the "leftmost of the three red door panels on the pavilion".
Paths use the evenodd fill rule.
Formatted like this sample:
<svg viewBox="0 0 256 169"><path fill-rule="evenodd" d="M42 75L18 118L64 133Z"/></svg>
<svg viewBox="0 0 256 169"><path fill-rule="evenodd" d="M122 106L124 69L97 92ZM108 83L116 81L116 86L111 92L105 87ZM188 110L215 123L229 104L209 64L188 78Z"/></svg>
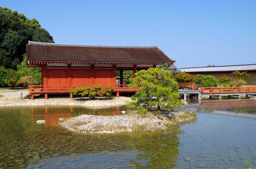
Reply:
<svg viewBox="0 0 256 169"><path fill-rule="evenodd" d="M66 70L49 70L48 86L65 86L67 71ZM53 87L55 88L55 87Z"/></svg>

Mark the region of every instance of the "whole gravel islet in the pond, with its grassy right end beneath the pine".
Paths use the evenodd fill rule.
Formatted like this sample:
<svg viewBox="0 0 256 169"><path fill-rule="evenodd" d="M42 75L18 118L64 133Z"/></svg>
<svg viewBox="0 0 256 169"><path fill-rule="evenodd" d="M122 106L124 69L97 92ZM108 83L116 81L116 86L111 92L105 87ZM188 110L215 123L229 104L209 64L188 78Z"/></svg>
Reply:
<svg viewBox="0 0 256 169"><path fill-rule="evenodd" d="M182 111L165 111L157 117L153 114L142 116L137 112L119 116L80 115L60 121L59 125L81 133L115 133L168 130L185 121L196 119L196 114Z"/></svg>

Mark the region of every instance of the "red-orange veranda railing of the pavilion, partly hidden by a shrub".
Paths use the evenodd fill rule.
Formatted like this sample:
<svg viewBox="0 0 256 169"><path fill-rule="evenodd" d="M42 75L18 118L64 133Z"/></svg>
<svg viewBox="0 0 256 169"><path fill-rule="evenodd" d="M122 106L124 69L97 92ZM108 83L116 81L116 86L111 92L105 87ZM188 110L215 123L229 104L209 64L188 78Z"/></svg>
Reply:
<svg viewBox="0 0 256 169"><path fill-rule="evenodd" d="M84 85L86 87L92 87L92 85ZM131 88L127 85L101 85L102 87L104 86L111 86L114 89L114 92L118 91L137 91L140 90L140 86L136 86L134 88ZM81 86L73 86L73 85L65 85L65 86L41 86L41 85L34 85L34 86L29 86L30 91L29 93L69 93L70 89L75 89L77 87Z"/></svg>

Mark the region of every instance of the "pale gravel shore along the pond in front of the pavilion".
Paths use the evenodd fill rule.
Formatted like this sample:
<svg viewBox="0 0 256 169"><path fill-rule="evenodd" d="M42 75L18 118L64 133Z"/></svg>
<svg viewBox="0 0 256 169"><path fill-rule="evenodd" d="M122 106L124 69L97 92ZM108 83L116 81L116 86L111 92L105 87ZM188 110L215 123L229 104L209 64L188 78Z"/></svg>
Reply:
<svg viewBox="0 0 256 169"><path fill-rule="evenodd" d="M131 101L130 97L99 97L97 99L75 98L75 99L0 99L1 106L40 106L40 105L79 105L85 107L103 107L125 105Z"/></svg>

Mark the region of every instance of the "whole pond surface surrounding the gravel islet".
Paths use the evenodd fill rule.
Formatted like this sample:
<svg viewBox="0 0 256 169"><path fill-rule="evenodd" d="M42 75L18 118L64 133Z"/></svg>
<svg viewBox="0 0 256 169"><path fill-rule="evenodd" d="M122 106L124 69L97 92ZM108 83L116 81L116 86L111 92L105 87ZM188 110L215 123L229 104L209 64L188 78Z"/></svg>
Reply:
<svg viewBox="0 0 256 169"><path fill-rule="evenodd" d="M196 101L196 100L195 100ZM125 107L0 107L1 168L243 168L256 165L256 101L202 100L195 122L168 132L81 135L59 118L121 115ZM45 124L37 124L39 119Z"/></svg>

